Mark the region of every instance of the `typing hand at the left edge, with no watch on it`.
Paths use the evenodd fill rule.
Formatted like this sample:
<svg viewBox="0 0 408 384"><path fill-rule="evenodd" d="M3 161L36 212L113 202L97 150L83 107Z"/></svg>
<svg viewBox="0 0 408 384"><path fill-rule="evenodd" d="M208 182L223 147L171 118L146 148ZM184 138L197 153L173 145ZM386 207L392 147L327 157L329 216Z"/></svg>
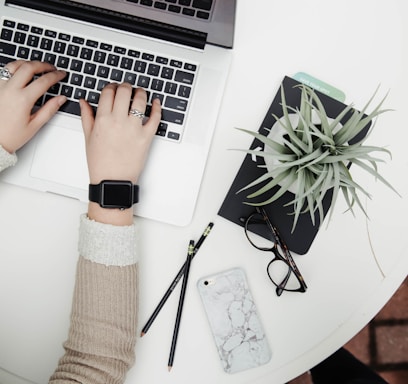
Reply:
<svg viewBox="0 0 408 384"><path fill-rule="evenodd" d="M0 80L0 144L9 153L26 144L65 103L65 96L55 96L33 113L35 102L66 73L40 61L13 61L7 64L12 74ZM32 81L34 75L42 74Z"/></svg>

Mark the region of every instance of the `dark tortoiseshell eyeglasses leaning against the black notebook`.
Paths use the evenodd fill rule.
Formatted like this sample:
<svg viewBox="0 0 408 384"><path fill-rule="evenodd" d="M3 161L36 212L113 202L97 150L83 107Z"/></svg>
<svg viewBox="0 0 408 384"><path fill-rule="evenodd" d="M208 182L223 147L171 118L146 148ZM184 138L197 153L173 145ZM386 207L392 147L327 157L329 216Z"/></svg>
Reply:
<svg viewBox="0 0 408 384"><path fill-rule="evenodd" d="M256 207L255 213L247 219L241 218L241 221L244 223L245 235L251 245L260 251L270 251L275 255L266 271L276 286L276 294L280 296L283 291L306 292L307 285L303 276L265 210ZM266 233L267 238L256 236L255 233Z"/></svg>

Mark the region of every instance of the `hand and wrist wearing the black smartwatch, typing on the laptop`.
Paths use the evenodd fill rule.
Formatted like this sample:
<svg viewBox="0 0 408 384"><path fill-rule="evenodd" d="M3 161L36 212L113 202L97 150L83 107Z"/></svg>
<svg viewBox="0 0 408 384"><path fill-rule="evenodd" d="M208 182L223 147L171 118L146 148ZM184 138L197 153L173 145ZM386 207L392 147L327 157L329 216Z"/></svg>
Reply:
<svg viewBox="0 0 408 384"><path fill-rule="evenodd" d="M159 100L154 100L149 119L129 115L129 109L144 113L146 92L138 88L133 95L130 84L109 84L102 90L98 110L80 100L82 126L91 184L102 180L128 180L136 184L143 170L150 144L161 119ZM130 108L129 108L130 106ZM110 224L130 224L133 210L103 209L90 203L88 216Z"/></svg>

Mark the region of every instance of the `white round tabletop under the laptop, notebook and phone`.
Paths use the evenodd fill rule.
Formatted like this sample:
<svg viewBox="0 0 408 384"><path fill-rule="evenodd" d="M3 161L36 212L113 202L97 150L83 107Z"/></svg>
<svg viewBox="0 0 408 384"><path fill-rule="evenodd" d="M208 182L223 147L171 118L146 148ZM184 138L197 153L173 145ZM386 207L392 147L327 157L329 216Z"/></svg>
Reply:
<svg viewBox="0 0 408 384"><path fill-rule="evenodd" d="M184 262L190 238L215 223L192 264L174 367L167 371L178 290L138 340L127 383L284 383L342 346L389 300L408 272L407 25L405 0L239 1L230 77L193 221L180 228L139 220L140 328ZM251 142L234 127L257 130L283 76L298 71L342 89L360 108L378 85L376 101L389 91L385 106L394 111L380 116L368 142L392 152L380 171L402 197L353 169L372 194L370 220L343 213L340 197L309 253L295 255L307 293L278 298L265 273L269 255L217 211L243 160L230 149ZM63 353L86 206L7 184L0 191L0 382L44 383ZM272 359L229 375L195 282L232 267L247 273Z"/></svg>

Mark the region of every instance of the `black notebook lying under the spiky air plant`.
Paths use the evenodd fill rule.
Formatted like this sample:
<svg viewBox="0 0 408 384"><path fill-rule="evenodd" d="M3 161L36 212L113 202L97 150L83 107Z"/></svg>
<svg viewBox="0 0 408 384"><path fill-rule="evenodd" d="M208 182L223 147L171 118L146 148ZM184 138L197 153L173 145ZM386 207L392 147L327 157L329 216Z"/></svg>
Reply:
<svg viewBox="0 0 408 384"><path fill-rule="evenodd" d="M282 86L284 87L286 103L288 106L291 106L293 108L300 107L301 89L300 87L298 87L298 85L300 84L301 83L299 83L298 81L287 76L283 79ZM345 104L323 93L316 91L316 94L322 101L326 109L326 113L330 118L335 118L344 108L346 108ZM268 130L270 130L276 122L276 119L272 116L273 114L275 114L279 118L283 115L280 89L278 90L271 106L269 107L268 112L266 113L261 128L259 129L259 133L268 135ZM347 120L348 118L349 115L346 115L345 120ZM357 137L351 140L350 143L354 142L355 140L361 139L361 135L365 135L368 131L368 128L369 126L367 126ZM252 142L250 149L263 149L263 147L264 144L255 139ZM228 191L227 196L225 197L225 200L218 212L220 216L234 222L235 224L243 226L244 223L241 218L246 219L255 211L254 206L247 205L245 203L265 201L268 193L270 193L270 195L268 196L272 196L272 194L277 189L279 189L279 187L275 187L272 191L267 192L267 194L261 195L259 198L257 198L258 200L248 199L246 196L251 192L259 189L259 185L238 193L239 190L257 179L265 172L265 168L262 168L262 166L264 165L265 163L262 157L255 157L251 155L245 156L245 159L237 173L237 176L235 177L231 188ZM323 199L323 209L325 215L330 208L331 197L332 193L331 191L329 191L328 193L326 193L326 196ZM267 212L271 222L277 227L282 239L286 242L288 248L297 254L303 255L308 252L314 238L317 235L320 225L320 219L318 213L316 212L315 224L313 225L310 218L310 213L303 213L300 215L297 225L292 232L294 218L292 214L293 205L285 205L293 199L294 194L287 191L279 199L263 206L263 208ZM263 234L262 232L258 234L266 237L266 234Z"/></svg>

